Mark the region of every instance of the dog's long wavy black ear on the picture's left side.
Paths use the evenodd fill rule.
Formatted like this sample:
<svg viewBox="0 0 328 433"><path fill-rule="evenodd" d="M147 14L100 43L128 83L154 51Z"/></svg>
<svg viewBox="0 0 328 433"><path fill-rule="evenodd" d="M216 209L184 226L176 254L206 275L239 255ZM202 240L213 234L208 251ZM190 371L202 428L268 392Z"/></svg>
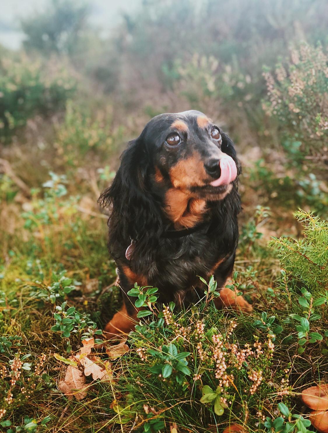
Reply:
<svg viewBox="0 0 328 433"><path fill-rule="evenodd" d="M117 259L116 249L122 250L122 246L129 246L131 239L135 240L131 263L136 269L138 257L143 265L147 259L151 260L150 242L156 243L162 233L161 205L151 193L150 172L151 161L139 137L129 142L112 185L99 199L103 206L113 204L108 220L109 251Z"/></svg>

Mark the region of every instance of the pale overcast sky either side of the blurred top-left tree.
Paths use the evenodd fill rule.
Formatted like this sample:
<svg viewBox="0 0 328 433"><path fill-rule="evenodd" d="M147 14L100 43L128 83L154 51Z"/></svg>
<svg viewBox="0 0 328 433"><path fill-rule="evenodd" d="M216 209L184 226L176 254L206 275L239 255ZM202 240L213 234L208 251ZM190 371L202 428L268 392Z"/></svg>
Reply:
<svg viewBox="0 0 328 433"><path fill-rule="evenodd" d="M24 39L19 18L46 8L49 0L0 0L0 43L17 49ZM131 11L141 0L89 0L89 22L109 32L120 20L120 12Z"/></svg>

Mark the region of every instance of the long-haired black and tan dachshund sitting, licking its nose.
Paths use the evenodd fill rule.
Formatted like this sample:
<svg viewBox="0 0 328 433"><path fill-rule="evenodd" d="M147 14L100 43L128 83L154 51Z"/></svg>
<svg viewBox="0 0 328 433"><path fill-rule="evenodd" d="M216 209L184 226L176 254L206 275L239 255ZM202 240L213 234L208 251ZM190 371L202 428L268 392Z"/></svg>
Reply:
<svg viewBox="0 0 328 433"><path fill-rule="evenodd" d="M158 287L159 302L181 305L203 297L215 276L215 305L250 311L241 296L224 288L232 274L241 210L234 145L199 111L155 116L129 143L113 184L100 204L113 204L109 252L124 295L122 309L106 325L110 338L128 333L137 313L126 293Z"/></svg>

